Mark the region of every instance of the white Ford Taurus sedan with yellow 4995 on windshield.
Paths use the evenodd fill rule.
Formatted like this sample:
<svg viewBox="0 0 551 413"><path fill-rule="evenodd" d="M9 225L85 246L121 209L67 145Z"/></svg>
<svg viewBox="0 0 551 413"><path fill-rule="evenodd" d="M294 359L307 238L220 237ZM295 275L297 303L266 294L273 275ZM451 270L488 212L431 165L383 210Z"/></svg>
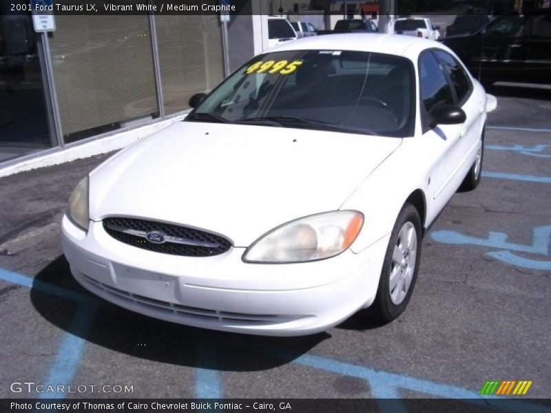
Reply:
<svg viewBox="0 0 551 413"><path fill-rule="evenodd" d="M446 46L335 34L260 54L86 176L63 250L167 321L306 335L410 300L422 237L481 176L486 93Z"/></svg>

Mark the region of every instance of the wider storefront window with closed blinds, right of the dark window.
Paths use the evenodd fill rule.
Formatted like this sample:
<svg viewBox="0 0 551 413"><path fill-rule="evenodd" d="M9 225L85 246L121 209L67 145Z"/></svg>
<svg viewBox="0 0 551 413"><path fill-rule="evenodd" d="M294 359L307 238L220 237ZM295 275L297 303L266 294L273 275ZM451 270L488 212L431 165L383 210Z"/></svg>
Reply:
<svg viewBox="0 0 551 413"><path fill-rule="evenodd" d="M159 116L147 16L57 16L50 51L65 142Z"/></svg>

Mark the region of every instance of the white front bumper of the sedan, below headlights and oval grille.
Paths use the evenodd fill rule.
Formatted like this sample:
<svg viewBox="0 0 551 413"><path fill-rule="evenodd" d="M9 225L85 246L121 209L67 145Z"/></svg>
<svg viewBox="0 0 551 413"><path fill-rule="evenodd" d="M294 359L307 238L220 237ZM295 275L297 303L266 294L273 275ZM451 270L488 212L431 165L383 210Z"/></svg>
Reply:
<svg viewBox="0 0 551 413"><path fill-rule="evenodd" d="M360 254L300 264L248 264L245 248L215 257L145 251L85 233L63 217L62 244L75 279L128 310L178 324L256 335L307 335L371 305L388 237Z"/></svg>

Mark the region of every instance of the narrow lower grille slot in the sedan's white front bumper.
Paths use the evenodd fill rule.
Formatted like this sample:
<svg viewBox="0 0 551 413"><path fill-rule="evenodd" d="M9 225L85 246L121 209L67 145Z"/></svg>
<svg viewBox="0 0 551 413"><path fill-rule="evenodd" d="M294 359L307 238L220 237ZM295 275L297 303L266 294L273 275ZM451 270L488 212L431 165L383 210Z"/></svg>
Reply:
<svg viewBox="0 0 551 413"><path fill-rule="evenodd" d="M124 302L127 306L136 306L137 308L147 308L159 315L176 315L181 318L181 321L185 323L186 319L195 320L210 320L220 323L240 323L240 324L256 324L256 325L270 325L287 323L300 319L304 316L298 315L268 315L268 314L244 314L244 313L229 313L227 311L209 310L207 308L197 308L182 306L180 304L170 303L168 301L160 301L143 295L128 293L127 291L119 290L112 286L107 286L102 282L98 282L93 278L88 277L82 273L81 280L85 282L87 288L92 292L104 293L116 303Z"/></svg>

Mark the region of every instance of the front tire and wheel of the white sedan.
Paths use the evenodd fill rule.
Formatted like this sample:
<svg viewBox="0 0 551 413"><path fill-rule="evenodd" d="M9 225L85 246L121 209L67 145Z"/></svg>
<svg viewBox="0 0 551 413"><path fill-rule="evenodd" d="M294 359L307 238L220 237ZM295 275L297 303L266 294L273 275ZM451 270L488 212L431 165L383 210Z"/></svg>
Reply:
<svg viewBox="0 0 551 413"><path fill-rule="evenodd" d="M391 233L377 295L371 306L371 313L377 321L393 321L408 306L417 280L421 242L422 225L419 213L412 204L406 203L398 214ZM405 251L404 246L408 246Z"/></svg>

